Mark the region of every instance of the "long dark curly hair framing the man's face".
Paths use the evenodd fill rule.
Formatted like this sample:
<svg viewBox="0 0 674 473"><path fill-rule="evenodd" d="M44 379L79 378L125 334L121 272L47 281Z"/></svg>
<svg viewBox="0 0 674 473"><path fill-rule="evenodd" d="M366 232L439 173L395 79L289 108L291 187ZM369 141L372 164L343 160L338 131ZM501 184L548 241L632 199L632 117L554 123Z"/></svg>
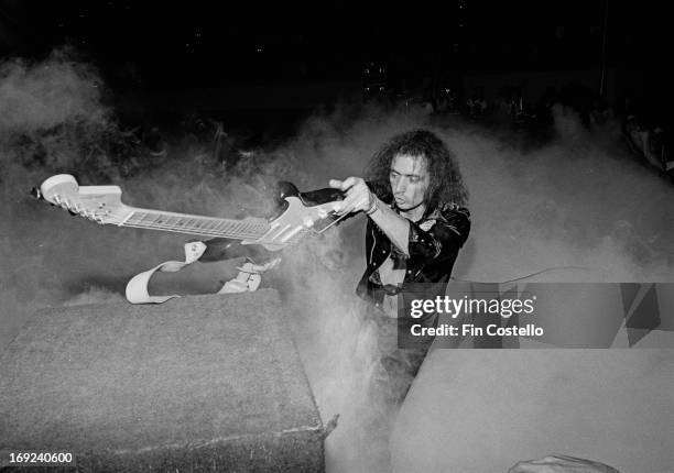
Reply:
<svg viewBox="0 0 674 473"><path fill-rule="evenodd" d="M389 180L391 163L399 154L426 158L431 177L425 196L427 211L446 204L461 207L468 204L468 190L464 185L456 156L436 134L428 130L412 130L391 138L370 160L366 170L368 179L387 183L388 190L391 191Z"/></svg>

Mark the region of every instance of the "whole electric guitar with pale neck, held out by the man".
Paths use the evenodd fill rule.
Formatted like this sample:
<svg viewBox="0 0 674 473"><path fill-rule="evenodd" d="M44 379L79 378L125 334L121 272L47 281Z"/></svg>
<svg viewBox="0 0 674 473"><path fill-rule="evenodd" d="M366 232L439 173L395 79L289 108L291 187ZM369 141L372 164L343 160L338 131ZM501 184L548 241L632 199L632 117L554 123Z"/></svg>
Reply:
<svg viewBox="0 0 674 473"><path fill-rule="evenodd" d="M50 177L34 194L100 224L241 240L241 244L260 244L271 251L293 244L306 233L323 233L343 218L335 213L344 199L338 189L300 193L291 183L280 183L279 188L281 213L270 220L220 219L131 207L122 204L118 186L79 186L69 174Z"/></svg>

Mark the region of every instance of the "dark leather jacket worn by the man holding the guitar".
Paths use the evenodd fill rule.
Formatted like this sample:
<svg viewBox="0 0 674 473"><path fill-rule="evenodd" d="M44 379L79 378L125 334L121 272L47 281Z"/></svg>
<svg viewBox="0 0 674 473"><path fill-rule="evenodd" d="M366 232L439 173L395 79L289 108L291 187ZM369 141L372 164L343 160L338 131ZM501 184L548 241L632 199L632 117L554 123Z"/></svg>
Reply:
<svg viewBox="0 0 674 473"><path fill-rule="evenodd" d="M393 208L390 186L368 183L370 190L384 204ZM384 294L405 292L423 283L426 294L444 294L459 249L470 232L470 212L453 204L427 209L417 222L410 222L409 257L400 252L385 233L368 218L366 233L367 267L356 293L376 305ZM393 257L395 268L405 268L401 287L384 286L379 280L378 268L387 257ZM415 289L416 290L416 289Z"/></svg>

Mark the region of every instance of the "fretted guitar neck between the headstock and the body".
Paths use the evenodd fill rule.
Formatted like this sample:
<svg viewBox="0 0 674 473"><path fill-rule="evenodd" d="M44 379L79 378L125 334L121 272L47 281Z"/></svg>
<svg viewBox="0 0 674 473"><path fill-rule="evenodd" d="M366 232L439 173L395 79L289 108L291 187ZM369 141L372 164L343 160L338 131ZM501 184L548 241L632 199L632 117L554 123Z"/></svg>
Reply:
<svg viewBox="0 0 674 473"><path fill-rule="evenodd" d="M130 213L118 226L236 240L259 239L270 228L264 219L217 219L134 207L129 207L129 210Z"/></svg>

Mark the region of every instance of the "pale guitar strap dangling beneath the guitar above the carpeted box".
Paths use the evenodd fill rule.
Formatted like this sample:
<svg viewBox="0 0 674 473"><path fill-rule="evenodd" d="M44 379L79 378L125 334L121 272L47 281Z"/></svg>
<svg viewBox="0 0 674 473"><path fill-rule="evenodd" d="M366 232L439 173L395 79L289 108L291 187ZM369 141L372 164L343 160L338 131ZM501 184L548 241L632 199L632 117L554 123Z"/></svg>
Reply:
<svg viewBox="0 0 674 473"><path fill-rule="evenodd" d="M152 270L143 271L133 276L127 284L126 296L131 304L163 304L178 295L151 296L148 292L150 279L157 271L161 273L176 273L183 267L197 261L206 251L206 244L200 241L185 243L185 261L167 261L154 266ZM250 258L242 265L237 266L239 274L231 280L225 283L217 294L233 294L254 292L262 280L261 274L276 266L281 258L274 258L265 264L254 264Z"/></svg>

